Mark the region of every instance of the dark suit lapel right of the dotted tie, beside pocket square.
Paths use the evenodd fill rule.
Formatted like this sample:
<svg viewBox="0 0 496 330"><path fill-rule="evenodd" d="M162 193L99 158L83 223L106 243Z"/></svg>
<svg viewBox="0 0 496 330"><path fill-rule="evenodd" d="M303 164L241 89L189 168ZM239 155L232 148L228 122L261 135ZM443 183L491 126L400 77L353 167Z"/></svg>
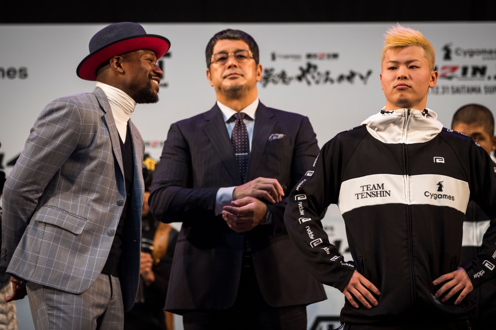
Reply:
<svg viewBox="0 0 496 330"><path fill-rule="evenodd" d="M276 123L277 120L275 119L272 110L265 107L262 103L259 103L255 113L255 126L253 127L253 138L251 140L251 151L245 182L253 180L253 176L260 164L269 136Z"/></svg>

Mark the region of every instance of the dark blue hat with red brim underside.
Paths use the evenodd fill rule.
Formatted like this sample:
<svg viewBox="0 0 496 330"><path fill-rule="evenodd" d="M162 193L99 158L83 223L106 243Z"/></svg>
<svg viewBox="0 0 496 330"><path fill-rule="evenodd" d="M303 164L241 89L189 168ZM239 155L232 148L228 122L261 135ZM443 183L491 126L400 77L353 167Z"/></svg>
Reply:
<svg viewBox="0 0 496 330"><path fill-rule="evenodd" d="M157 58L160 58L170 47L171 42L167 38L147 34L137 23L114 23L101 29L91 38L90 55L79 63L76 73L81 79L96 81L96 69L114 56L147 49L155 52Z"/></svg>

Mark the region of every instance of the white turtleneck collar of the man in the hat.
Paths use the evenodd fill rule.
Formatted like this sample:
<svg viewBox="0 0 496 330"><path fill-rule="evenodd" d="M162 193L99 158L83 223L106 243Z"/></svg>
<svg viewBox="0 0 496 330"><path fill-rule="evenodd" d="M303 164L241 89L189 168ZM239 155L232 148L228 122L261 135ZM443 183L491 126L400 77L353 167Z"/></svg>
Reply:
<svg viewBox="0 0 496 330"><path fill-rule="evenodd" d="M112 114L114 115L114 120L116 121L117 131L123 142L125 142L127 121L131 117L134 108L136 107L136 102L119 88L112 87L110 85L97 82L96 87L100 87L110 103L110 109L112 109Z"/></svg>

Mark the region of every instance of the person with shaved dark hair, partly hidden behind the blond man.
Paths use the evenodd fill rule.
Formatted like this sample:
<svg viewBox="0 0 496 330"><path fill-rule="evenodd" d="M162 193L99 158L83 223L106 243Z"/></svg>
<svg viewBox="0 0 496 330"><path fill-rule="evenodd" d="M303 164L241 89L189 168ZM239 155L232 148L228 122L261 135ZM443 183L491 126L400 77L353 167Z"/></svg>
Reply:
<svg viewBox="0 0 496 330"><path fill-rule="evenodd" d="M458 109L453 115L451 129L474 139L489 155L496 149L493 113L486 107L469 104ZM495 158L491 156L493 161ZM482 240L490 222L494 221L473 201L468 204L463 222L462 254L460 267L469 263L481 251ZM495 329L496 281L493 279L484 286L469 293L469 298L477 304L471 320L473 330Z"/></svg>

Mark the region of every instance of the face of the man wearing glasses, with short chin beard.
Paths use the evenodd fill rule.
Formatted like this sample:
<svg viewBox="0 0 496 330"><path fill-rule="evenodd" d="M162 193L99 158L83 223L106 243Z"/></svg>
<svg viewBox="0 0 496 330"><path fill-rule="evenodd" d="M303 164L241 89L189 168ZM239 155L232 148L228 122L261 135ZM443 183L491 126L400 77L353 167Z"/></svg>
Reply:
<svg viewBox="0 0 496 330"><path fill-rule="evenodd" d="M249 51L248 44L244 41L223 39L217 41L213 54L230 54L241 50ZM212 61L207 69L207 79L210 86L214 87L218 100L240 99L253 91L256 93L256 83L261 77L262 66L251 56L238 61L233 55L229 55L225 63Z"/></svg>

